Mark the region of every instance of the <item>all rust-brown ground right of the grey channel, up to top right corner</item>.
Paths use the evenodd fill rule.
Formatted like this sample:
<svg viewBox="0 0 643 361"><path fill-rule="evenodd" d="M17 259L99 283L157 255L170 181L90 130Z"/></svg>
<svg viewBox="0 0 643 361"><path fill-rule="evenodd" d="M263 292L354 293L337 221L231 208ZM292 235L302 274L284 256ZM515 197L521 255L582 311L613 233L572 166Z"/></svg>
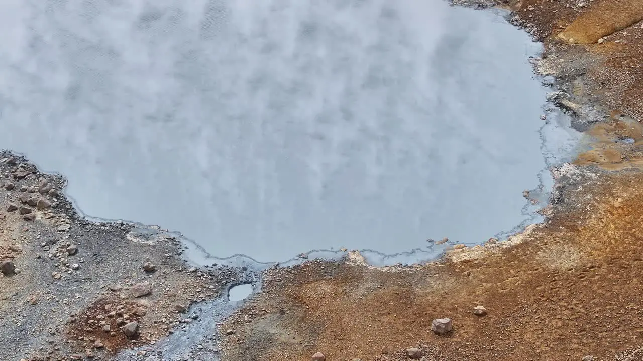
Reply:
<svg viewBox="0 0 643 361"><path fill-rule="evenodd" d="M643 1L499 5L544 42L536 71L592 145L552 170L546 222L429 265L271 269L221 326L224 360L643 360Z"/></svg>

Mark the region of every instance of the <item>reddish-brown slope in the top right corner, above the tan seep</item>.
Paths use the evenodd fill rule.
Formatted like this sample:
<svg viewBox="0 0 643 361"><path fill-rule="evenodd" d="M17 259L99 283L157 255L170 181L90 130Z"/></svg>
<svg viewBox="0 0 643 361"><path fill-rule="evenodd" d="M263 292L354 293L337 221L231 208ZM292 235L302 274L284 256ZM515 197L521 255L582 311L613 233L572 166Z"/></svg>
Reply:
<svg viewBox="0 0 643 361"><path fill-rule="evenodd" d="M584 96L643 120L643 1L502 3L520 15L523 25L545 42L547 55L552 55L547 67L554 75L581 76ZM598 44L601 37L604 41Z"/></svg>

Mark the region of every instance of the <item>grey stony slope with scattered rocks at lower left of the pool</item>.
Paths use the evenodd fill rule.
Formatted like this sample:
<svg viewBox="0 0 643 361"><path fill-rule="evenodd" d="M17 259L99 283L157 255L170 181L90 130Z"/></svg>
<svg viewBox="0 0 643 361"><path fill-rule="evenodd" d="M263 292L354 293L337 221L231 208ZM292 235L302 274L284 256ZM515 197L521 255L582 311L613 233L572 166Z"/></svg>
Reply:
<svg viewBox="0 0 643 361"><path fill-rule="evenodd" d="M8 152L0 186L0 360L160 356L157 340L200 322L194 305L243 276L186 265L158 228L78 217L62 178Z"/></svg>

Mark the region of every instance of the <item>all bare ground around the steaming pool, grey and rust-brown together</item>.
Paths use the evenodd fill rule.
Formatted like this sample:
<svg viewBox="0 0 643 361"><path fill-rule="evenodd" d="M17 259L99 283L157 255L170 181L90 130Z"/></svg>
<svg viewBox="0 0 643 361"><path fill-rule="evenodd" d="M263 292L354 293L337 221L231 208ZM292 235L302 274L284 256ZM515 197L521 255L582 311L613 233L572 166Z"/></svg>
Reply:
<svg viewBox="0 0 643 361"><path fill-rule="evenodd" d="M406 360L416 347L426 360L639 359L643 94L631 89L643 80L631 71L643 28L570 44L557 34L606 4L580 3L496 5L543 42L536 73L554 77L552 101L593 149L552 170L545 222L505 242L453 247L434 263L376 268L347 252L260 276L252 267L197 269L173 234L90 222L62 195L62 177L1 152L0 260L18 271L0 275L0 359ZM617 3L637 13L634 1ZM228 288L258 277L260 292L234 311ZM473 315L478 305L488 315ZM442 317L454 330L439 337L431 321Z"/></svg>

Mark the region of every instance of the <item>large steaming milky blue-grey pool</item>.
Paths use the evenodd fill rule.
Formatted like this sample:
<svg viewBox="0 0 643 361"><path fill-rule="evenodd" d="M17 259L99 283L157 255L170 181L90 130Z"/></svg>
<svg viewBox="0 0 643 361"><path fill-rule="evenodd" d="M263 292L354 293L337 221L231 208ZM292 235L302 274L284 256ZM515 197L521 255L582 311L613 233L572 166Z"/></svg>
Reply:
<svg viewBox="0 0 643 361"><path fill-rule="evenodd" d="M431 260L538 222L574 152L529 64L540 45L504 15L5 0L0 148L66 176L84 214L180 231L208 262Z"/></svg>

